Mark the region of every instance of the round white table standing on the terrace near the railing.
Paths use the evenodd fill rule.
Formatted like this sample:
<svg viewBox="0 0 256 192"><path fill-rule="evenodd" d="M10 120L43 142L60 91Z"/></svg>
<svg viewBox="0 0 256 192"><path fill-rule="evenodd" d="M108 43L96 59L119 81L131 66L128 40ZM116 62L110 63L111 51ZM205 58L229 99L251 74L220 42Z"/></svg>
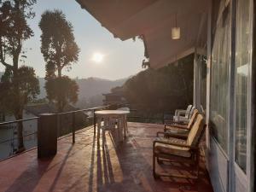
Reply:
<svg viewBox="0 0 256 192"><path fill-rule="evenodd" d="M129 111L123 110L102 110L96 111L97 127L98 133L102 130L111 130L117 123L118 137L119 141L123 141L126 137L127 132L127 120L126 115L130 113ZM113 120L114 119L114 122ZM103 124L102 124L103 121ZM105 136L104 136L105 137Z"/></svg>

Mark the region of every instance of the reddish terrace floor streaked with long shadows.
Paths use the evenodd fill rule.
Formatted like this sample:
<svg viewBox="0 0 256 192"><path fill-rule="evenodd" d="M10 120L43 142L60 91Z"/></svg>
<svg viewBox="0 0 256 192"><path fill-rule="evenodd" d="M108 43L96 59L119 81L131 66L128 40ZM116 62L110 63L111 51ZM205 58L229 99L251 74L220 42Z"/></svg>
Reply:
<svg viewBox="0 0 256 192"><path fill-rule="evenodd" d="M128 127L129 137L118 147L107 137L102 150L102 143L97 144L93 129L89 129L76 134L74 145L72 137L61 139L58 153L50 160L38 160L37 149L4 160L0 162L0 191L212 192L204 166L198 181L154 180L152 140L163 125L128 123ZM177 167L183 172L183 165Z"/></svg>

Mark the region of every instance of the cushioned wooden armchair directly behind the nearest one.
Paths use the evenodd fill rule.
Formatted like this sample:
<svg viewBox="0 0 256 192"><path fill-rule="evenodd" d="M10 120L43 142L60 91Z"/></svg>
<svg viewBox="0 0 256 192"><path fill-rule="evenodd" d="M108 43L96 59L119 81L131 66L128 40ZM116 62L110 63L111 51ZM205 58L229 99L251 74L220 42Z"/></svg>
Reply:
<svg viewBox="0 0 256 192"><path fill-rule="evenodd" d="M189 135L189 131L192 126L195 124L195 120L199 111L197 109L194 110L192 117L189 120L189 124L178 124L176 122L172 122L169 124L165 124L164 132L165 137L169 137L169 134L176 134L178 138L187 139Z"/></svg>

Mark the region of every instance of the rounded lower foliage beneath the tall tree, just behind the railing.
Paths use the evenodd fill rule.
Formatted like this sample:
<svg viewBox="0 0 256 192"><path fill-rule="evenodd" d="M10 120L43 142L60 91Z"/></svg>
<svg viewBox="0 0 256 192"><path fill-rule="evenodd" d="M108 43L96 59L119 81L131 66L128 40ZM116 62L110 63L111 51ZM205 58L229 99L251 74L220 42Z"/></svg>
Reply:
<svg viewBox="0 0 256 192"><path fill-rule="evenodd" d="M57 102L58 111L63 111L67 103L78 101L79 86L75 80L67 76L48 79L45 83L47 98L49 101Z"/></svg>

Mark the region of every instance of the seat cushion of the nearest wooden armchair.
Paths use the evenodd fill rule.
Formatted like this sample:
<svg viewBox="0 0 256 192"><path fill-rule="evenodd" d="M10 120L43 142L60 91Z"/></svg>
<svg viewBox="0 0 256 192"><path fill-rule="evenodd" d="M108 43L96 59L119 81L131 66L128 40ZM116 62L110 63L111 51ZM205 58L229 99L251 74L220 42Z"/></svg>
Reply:
<svg viewBox="0 0 256 192"><path fill-rule="evenodd" d="M186 144L185 141L179 140L176 138L166 139L166 138L157 137L156 139L159 141ZM175 145L169 145L169 144L163 144L163 143L155 143L154 152L157 154L172 154L172 155L177 155L182 157L191 157L189 148L183 148L183 147L178 147Z"/></svg>

